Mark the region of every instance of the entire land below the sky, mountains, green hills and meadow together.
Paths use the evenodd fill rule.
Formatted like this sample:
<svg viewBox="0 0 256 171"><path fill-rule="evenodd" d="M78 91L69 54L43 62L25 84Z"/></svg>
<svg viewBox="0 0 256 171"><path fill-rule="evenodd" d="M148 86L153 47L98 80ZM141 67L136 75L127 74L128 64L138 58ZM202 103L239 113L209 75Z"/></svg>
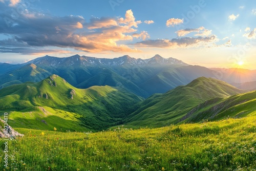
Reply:
<svg viewBox="0 0 256 171"><path fill-rule="evenodd" d="M160 55L46 56L0 70L0 111L24 134L9 168L253 170L256 91L231 70L222 78L240 83Z"/></svg>

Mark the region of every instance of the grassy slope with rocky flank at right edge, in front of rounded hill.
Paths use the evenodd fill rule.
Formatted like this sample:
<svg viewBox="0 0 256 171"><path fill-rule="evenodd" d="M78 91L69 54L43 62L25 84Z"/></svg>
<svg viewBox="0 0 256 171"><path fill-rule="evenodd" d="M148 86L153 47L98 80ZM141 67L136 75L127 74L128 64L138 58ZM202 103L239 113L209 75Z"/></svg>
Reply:
<svg viewBox="0 0 256 171"><path fill-rule="evenodd" d="M216 99L216 98L215 98ZM256 91L237 94L231 97L211 99L199 104L189 111L186 122L199 122L201 120L220 120L226 117L240 118L256 115Z"/></svg>

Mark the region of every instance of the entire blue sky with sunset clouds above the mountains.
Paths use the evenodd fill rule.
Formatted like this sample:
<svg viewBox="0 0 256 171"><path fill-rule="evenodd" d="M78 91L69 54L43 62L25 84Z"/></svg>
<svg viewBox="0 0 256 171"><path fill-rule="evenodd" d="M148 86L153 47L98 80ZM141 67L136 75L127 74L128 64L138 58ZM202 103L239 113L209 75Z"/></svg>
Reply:
<svg viewBox="0 0 256 171"><path fill-rule="evenodd" d="M0 62L159 54L255 70L255 40L254 1L0 0Z"/></svg>

